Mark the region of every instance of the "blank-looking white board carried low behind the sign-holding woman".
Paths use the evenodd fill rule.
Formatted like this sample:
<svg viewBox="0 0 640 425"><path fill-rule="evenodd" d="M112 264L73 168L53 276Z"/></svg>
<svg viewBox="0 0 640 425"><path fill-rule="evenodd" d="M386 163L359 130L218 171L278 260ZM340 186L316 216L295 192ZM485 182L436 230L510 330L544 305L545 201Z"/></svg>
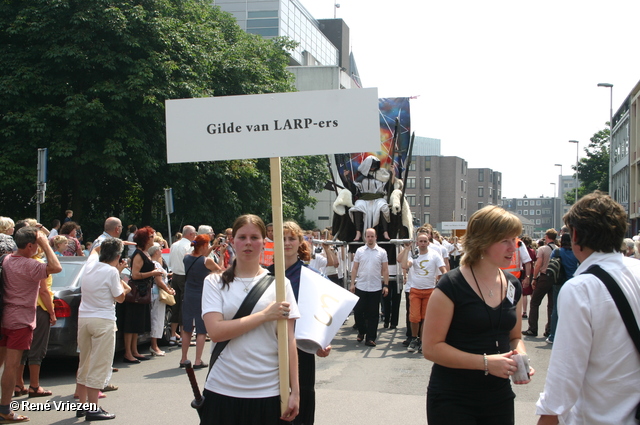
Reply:
<svg viewBox="0 0 640 425"><path fill-rule="evenodd" d="M296 320L298 348L315 354L319 348L330 345L357 302L356 295L302 267L298 293L300 318Z"/></svg>

